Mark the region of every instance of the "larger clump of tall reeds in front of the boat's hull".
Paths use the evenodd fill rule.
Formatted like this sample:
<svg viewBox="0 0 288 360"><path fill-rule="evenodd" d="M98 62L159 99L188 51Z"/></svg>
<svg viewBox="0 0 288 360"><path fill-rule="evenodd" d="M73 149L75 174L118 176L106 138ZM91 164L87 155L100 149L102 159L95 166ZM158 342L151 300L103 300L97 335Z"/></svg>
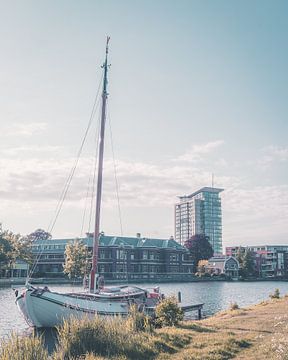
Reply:
<svg viewBox="0 0 288 360"><path fill-rule="evenodd" d="M152 336L136 331L131 319L71 319L58 328L58 345L54 360L68 360L90 354L128 359L151 359L157 354Z"/></svg>

